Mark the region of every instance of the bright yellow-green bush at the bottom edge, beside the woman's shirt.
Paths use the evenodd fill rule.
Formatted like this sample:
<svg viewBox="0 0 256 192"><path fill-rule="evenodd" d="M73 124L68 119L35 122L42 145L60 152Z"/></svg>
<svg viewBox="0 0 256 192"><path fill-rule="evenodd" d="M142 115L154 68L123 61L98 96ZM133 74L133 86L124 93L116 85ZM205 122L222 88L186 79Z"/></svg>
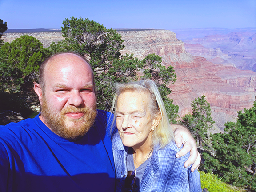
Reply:
<svg viewBox="0 0 256 192"><path fill-rule="evenodd" d="M200 172L201 188L207 188L209 192L240 192L232 186L222 182L216 175Z"/></svg>

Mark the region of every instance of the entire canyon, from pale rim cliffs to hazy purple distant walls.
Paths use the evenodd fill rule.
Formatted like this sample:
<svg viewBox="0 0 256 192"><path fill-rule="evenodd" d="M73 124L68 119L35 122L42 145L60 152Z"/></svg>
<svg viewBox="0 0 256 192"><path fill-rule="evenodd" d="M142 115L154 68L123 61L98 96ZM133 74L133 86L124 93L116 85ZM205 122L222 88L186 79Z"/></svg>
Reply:
<svg viewBox="0 0 256 192"><path fill-rule="evenodd" d="M224 132L224 123L235 121L237 111L252 107L256 87L253 30L237 33L236 36L240 40L232 39L235 35L230 35L227 31L220 35L205 33L208 36L197 36L183 41L176 38L176 33L168 30L126 29L117 32L124 40L125 48L121 51L122 54L133 53L143 59L146 55L155 53L162 57L163 65L174 67L177 80L169 85L172 90L169 97L179 106L180 117L192 112L191 101L204 95L211 105L212 117L216 122L211 132ZM44 47L48 47L52 41L63 39L60 31L12 32L5 33L3 39L5 42L11 42L25 34L40 40ZM210 43L206 43L207 40ZM226 48L225 42L228 42ZM245 54L247 58L244 59Z"/></svg>

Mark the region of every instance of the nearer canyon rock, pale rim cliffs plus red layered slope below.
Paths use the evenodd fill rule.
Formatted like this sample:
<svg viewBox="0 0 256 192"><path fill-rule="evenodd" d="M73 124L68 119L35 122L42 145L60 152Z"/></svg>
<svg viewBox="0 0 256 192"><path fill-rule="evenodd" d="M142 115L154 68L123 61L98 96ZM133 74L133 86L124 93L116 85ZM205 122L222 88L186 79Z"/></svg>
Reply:
<svg viewBox="0 0 256 192"><path fill-rule="evenodd" d="M256 72L237 69L227 62L227 54L217 48L205 48L196 45L194 50L201 49L208 56L192 56L186 52L184 43L168 30L119 30L124 39L125 48L122 54L133 53L142 59L147 54L155 53L162 57L163 64L172 65L177 74L177 81L170 84L170 98L178 104L179 115L192 112L190 103L199 96L205 95L211 104L212 116L216 127L223 131L224 123L236 120L237 111L252 107ZM30 35L40 40L44 47L52 41L62 40L61 32L41 33L6 33L4 41L11 42L21 35ZM189 45L188 45L189 46ZM192 50L192 49L190 49ZM204 55L207 55L204 54ZM226 54L226 55L225 55ZM202 54L203 55L203 54Z"/></svg>

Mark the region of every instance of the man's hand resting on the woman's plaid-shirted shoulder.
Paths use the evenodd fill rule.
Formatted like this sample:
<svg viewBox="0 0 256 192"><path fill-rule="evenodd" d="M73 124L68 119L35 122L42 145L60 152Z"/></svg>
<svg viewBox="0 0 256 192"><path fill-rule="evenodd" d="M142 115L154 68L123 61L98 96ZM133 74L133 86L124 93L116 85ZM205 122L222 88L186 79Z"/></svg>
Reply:
<svg viewBox="0 0 256 192"><path fill-rule="evenodd" d="M191 171L195 171L195 169L198 169L201 161L201 156L197 151L196 141L186 127L179 124L172 124L172 128L174 129L174 140L177 147L181 147L184 144L183 148L176 153L176 157L179 158L190 152L190 156L184 163L184 167L193 164Z"/></svg>

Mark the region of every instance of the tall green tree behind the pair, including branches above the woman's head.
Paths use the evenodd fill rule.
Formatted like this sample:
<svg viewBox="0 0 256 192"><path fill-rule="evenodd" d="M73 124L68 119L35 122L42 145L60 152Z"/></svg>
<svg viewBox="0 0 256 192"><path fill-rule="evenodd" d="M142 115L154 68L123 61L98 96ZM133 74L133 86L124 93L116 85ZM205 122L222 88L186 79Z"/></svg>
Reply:
<svg viewBox="0 0 256 192"><path fill-rule="evenodd" d="M107 29L88 18L72 17L65 19L63 25L64 40L52 43L48 52L72 51L90 61L98 92L98 108L104 110L111 108L114 82L126 83L147 78L155 80L160 85L160 92L168 105L166 107L170 120L175 122L178 106L173 105L172 100L167 98L171 92L168 84L176 80L172 66L163 66L161 57L155 54L148 55L143 60L133 55L121 55L120 50L124 48L121 35L116 30Z"/></svg>

